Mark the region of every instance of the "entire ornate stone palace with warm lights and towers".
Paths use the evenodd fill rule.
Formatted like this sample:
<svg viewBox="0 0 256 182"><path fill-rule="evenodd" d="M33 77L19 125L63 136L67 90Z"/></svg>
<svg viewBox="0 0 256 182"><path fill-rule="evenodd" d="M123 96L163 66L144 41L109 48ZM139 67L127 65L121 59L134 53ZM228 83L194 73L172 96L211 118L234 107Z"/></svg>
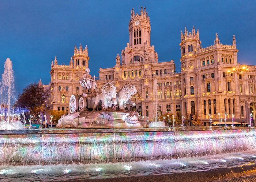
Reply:
<svg viewBox="0 0 256 182"><path fill-rule="evenodd" d="M129 43L117 54L113 68L99 68L98 88L107 81L113 82L117 90L125 83L134 84L137 93L132 100L136 106L127 106L126 110L136 110L149 119L155 117L153 106L157 104L158 115L197 113L207 126L208 114L213 121L219 120L218 113L225 118L226 112L228 120L234 114L234 120L239 122L240 109L242 121L249 122L256 104L256 66L237 63L235 36L232 45L223 45L216 33L214 45L202 48L199 30L193 27L188 32L185 28L180 35L181 72L177 73L173 60L158 62L145 8L140 14L132 9L128 26ZM78 80L88 67L88 60L87 47L83 50L81 45L79 49L75 47L69 66L58 65L55 58L50 71L51 109L68 111L71 93L82 94Z"/></svg>

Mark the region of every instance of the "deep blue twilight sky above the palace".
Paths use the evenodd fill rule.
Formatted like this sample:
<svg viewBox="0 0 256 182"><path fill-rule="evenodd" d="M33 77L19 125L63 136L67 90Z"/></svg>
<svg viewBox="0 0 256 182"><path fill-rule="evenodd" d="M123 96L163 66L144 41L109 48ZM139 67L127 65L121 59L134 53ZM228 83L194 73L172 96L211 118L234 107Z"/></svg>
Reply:
<svg viewBox="0 0 256 182"><path fill-rule="evenodd" d="M202 47L223 44L236 35L238 62L255 65L256 3L236 0L111 1L111 0L1 0L0 73L13 63L16 92L31 82L50 82L51 60L69 64L74 44L87 44L91 74L115 65L128 42L130 10L146 7L151 23L151 45L159 61L174 59L180 72L180 31L199 28Z"/></svg>

